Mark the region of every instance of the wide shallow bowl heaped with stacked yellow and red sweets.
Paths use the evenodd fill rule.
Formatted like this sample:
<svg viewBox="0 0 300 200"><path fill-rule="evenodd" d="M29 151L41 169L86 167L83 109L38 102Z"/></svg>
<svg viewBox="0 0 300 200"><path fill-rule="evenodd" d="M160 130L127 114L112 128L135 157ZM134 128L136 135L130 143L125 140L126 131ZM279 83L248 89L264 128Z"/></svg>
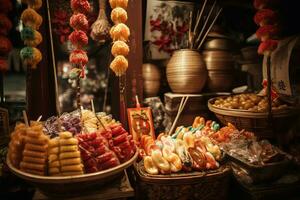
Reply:
<svg viewBox="0 0 300 200"><path fill-rule="evenodd" d="M50 126L36 121L17 124L11 133L9 169L47 196L74 196L101 187L123 175L138 156L132 135L120 123L94 129L82 118L77 132L66 130L70 119L76 121L61 121L60 130L52 127L51 135Z"/></svg>

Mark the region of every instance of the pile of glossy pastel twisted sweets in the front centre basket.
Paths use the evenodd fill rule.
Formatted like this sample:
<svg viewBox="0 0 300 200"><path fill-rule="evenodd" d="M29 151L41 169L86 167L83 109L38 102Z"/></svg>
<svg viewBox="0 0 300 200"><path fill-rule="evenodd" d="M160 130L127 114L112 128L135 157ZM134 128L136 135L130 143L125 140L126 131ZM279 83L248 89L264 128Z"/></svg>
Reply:
<svg viewBox="0 0 300 200"><path fill-rule="evenodd" d="M171 136L160 134L141 138L141 151L145 171L149 174L205 171L219 168L222 152L209 137L218 131L216 123L202 120L190 127L178 127ZM204 119L204 118L203 118Z"/></svg>

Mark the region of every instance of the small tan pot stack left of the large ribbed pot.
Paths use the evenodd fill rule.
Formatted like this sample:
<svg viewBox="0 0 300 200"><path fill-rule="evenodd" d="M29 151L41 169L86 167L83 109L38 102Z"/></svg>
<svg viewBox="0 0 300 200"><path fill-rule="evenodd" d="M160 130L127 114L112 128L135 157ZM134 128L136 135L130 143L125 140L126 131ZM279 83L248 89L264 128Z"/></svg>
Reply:
<svg viewBox="0 0 300 200"><path fill-rule="evenodd" d="M143 64L143 88L146 97L157 96L160 88L160 77L161 74L156 65L150 63Z"/></svg>

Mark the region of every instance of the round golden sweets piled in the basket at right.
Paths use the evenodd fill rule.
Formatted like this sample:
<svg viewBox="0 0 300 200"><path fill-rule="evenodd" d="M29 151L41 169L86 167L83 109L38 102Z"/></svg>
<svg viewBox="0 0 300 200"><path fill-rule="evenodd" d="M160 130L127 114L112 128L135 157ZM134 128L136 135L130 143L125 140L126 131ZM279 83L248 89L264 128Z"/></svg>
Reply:
<svg viewBox="0 0 300 200"><path fill-rule="evenodd" d="M228 97L217 98L213 106L219 108L248 110L252 112L267 112L268 98L266 96L259 96L254 93L238 94ZM283 110L288 108L287 104L280 102L276 99L272 102L272 110Z"/></svg>

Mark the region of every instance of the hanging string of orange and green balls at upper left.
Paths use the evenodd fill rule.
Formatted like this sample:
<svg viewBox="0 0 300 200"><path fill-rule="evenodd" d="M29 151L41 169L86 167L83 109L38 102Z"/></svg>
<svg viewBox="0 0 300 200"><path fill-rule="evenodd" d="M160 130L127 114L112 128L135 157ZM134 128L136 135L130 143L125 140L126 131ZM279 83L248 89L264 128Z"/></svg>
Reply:
<svg viewBox="0 0 300 200"><path fill-rule="evenodd" d="M22 0L27 4L28 8L21 14L21 20L24 28L21 30L21 39L26 47L21 49L20 57L23 63L36 69L37 65L42 61L42 53L36 47L43 41L43 37L37 30L43 22L43 18L36 10L42 7L42 0Z"/></svg>

